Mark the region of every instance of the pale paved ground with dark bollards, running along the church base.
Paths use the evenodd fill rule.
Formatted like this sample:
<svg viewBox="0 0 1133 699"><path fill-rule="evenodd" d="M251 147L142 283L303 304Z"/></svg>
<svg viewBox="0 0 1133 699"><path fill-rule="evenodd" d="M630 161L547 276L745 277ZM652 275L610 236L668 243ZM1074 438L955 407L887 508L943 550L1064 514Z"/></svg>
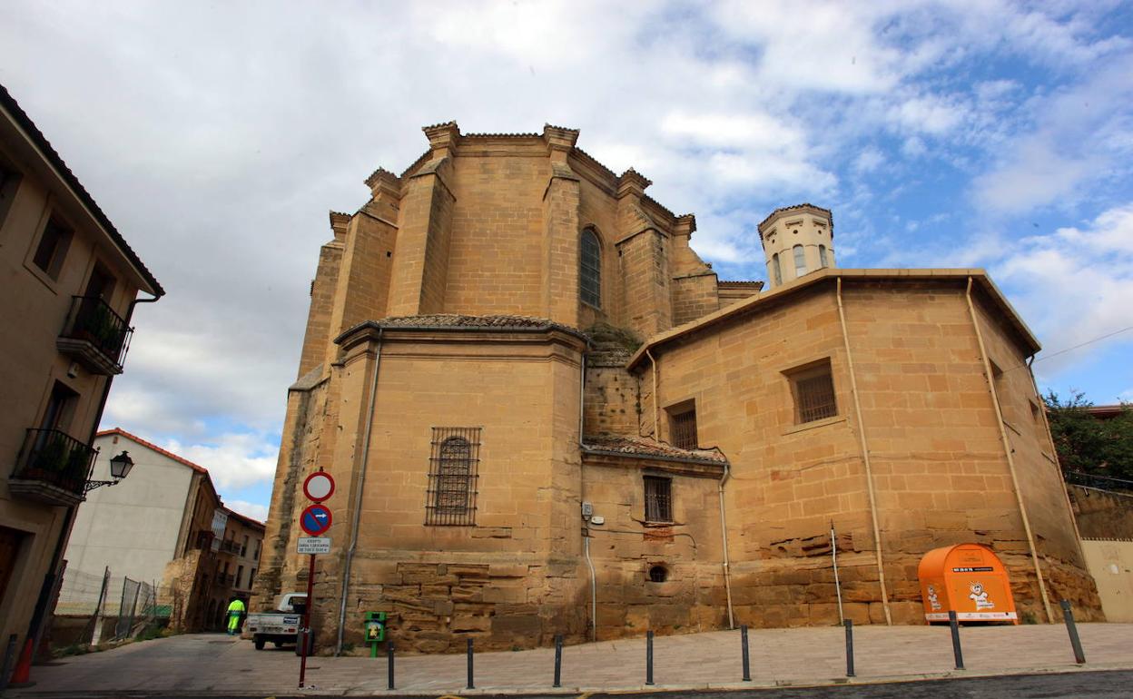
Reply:
<svg viewBox="0 0 1133 699"><path fill-rule="evenodd" d="M1133 668L1133 624L1080 624L1088 663L1083 670ZM947 626L854 629L857 677L845 677L841 628L752 630L751 682L741 682L740 632L657 637L651 689L723 689L878 682L942 676L1068 672L1074 663L1060 625L961 629L966 670L954 670ZM603 641L563 649L563 693L644 689L645 639ZM398 694L547 692L553 690L554 650L476 655L476 689L465 687L463 655L401 656ZM123 646L37 666L35 687L6 696L130 692L297 692L299 658L290 648L256 651L252 641L190 634ZM315 657L308 660L307 693L386 694L385 659ZM313 687L310 687L313 685Z"/></svg>

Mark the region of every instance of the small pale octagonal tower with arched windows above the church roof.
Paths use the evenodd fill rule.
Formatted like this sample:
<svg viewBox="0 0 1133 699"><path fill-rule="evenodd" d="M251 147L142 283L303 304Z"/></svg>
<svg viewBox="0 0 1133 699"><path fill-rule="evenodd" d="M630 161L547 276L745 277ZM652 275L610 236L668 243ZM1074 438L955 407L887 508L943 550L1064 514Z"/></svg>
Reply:
<svg viewBox="0 0 1133 699"><path fill-rule="evenodd" d="M834 267L834 216L828 208L798 204L776 208L759 224L770 287Z"/></svg>

